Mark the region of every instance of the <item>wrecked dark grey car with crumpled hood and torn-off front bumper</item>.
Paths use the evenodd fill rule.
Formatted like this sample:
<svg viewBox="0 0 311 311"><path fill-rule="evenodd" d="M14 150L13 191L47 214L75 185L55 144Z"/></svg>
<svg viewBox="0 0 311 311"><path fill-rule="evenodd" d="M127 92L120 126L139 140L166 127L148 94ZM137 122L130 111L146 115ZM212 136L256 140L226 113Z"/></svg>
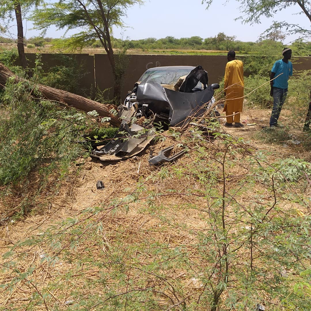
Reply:
<svg viewBox="0 0 311 311"><path fill-rule="evenodd" d="M149 68L118 107L118 134L91 156L113 161L136 155L155 137L155 125L182 126L188 116L202 115L215 102L217 88L208 85L201 65Z"/></svg>

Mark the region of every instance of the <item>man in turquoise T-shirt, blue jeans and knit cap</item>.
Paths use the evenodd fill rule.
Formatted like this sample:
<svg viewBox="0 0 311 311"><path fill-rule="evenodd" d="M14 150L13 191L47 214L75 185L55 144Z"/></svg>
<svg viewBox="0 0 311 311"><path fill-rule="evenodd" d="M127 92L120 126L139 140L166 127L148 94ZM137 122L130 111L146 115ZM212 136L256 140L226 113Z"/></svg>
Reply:
<svg viewBox="0 0 311 311"><path fill-rule="evenodd" d="M276 77L273 81L270 81L271 91L270 95L273 96L273 108L270 117L270 128L279 126L277 120L280 116L280 112L284 101L286 99L288 91L288 79L293 75L293 65L289 61L291 58L291 49L283 49L283 59L277 60L272 69L270 80Z"/></svg>

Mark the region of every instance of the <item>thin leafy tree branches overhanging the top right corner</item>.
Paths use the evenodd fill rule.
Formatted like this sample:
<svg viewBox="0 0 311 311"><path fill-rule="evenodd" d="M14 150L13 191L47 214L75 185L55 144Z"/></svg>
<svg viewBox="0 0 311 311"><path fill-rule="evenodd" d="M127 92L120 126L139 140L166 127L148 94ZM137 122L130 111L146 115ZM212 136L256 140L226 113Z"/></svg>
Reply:
<svg viewBox="0 0 311 311"><path fill-rule="evenodd" d="M240 12L242 16L236 20L242 20L244 23L260 24L262 17L274 17L276 12L288 7L300 8L298 15L305 15L311 23L311 0L237 0L241 3ZM207 9L211 6L213 0L202 0L202 4L207 4ZM229 2L229 0L227 0ZM311 30L304 29L296 23L287 21L274 21L273 24L262 33L260 39L271 37L276 31L283 30L286 35L298 34L300 38L311 38Z"/></svg>

